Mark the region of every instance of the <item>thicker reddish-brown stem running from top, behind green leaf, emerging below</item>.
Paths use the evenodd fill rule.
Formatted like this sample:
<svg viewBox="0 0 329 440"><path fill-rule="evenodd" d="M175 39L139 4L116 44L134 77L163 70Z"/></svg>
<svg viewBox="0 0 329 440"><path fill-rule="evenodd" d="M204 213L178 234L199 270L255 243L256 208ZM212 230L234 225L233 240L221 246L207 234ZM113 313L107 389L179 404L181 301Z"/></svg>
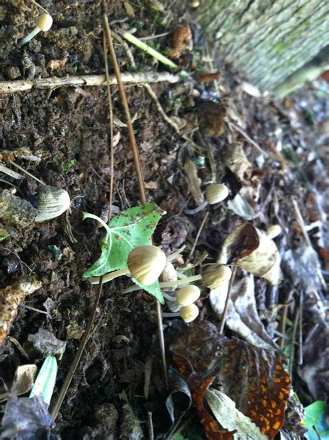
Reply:
<svg viewBox="0 0 329 440"><path fill-rule="evenodd" d="M135 171L136 171L136 175L137 175L137 182L138 182L138 187L140 190L140 200L141 200L142 204L145 205L146 204L146 192L145 192L145 187L144 187L144 179L142 176L142 168L140 165L140 156L139 156L138 149L137 149L135 133L133 130L133 124L132 124L131 118L130 118L130 111L129 111L128 102L126 99L126 93L124 91L124 84L121 81L121 73L120 73L118 62L117 62L117 56L115 55L115 49L113 47L110 25L108 24L108 17L106 16L106 13L105 13L106 3L104 0L102 0L102 7L103 7L103 26L105 28L106 41L108 43L108 49L110 51L110 56L112 58L113 68L115 70L115 76L117 78L117 84L119 87L119 94L120 94L121 102L122 102L122 105L124 106L124 112L126 114L126 124L127 124L127 128L128 128L130 149L133 153ZM164 374L164 378L165 378L166 388L168 389L169 382L168 382L168 374L167 374L167 359L166 359L166 353L165 353L165 337L163 335L160 301L155 299L155 304L156 304L156 315L157 315L157 323L158 323L158 337L159 337L159 344L160 344L160 350L161 350L161 356L162 356L162 368L163 368L163 374Z"/></svg>

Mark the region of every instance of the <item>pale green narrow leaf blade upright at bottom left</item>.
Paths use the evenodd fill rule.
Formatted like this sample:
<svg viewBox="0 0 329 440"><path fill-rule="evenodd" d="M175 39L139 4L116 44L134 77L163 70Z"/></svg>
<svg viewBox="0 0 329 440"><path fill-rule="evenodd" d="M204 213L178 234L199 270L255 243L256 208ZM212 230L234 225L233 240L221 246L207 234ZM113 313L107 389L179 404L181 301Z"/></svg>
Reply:
<svg viewBox="0 0 329 440"><path fill-rule="evenodd" d="M51 396L53 394L53 387L55 387L56 376L57 376L58 366L56 357L47 356L44 359L44 363L35 379L33 389L28 397L38 396L42 394L42 398L46 405L49 406Z"/></svg>

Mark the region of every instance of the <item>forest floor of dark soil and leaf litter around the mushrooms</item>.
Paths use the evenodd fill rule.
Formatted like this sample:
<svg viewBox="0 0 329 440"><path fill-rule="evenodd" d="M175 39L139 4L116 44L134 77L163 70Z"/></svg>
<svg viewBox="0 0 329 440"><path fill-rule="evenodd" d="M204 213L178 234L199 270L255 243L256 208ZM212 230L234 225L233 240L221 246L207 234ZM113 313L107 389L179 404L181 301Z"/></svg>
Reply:
<svg viewBox="0 0 329 440"><path fill-rule="evenodd" d="M17 42L31 31L40 11L29 1L0 2L0 82L103 74L99 2L69 2L74 4L66 8L67 3L43 2L53 14L51 30L19 47ZM164 212L153 239L167 255L185 245L176 266L180 271L187 267L185 274L194 274L201 266L217 261L226 237L242 223L251 221L258 230L272 224L281 226L282 232L275 238L282 260L280 286L237 269L224 335L265 350L284 348L283 362L301 404L294 396L289 397L281 432L283 438L302 439L303 407L326 400L329 392L324 373L329 338L323 296L323 280L329 271L325 223L329 198L324 171L328 161L328 84L317 81L283 100L262 96L222 62L220 54L218 58L210 51L192 8L154 0L128 3L125 9L119 1L108 1L108 12L113 31L135 28L139 37L170 33L179 24L188 24L193 37L177 62L194 78L217 70L221 73L215 81L202 85L220 99L219 103L203 99L188 81L152 83L157 102L143 83L125 85L147 198ZM162 53L167 53L172 44L170 35L147 42ZM155 72L156 76L168 71L140 49L131 44L128 47L135 66L124 46L115 40L122 74L147 76ZM110 58L109 69L112 74ZM114 215L139 205L140 194L121 99L116 86L111 90L116 117ZM169 123L159 112L159 104ZM41 282L40 289L19 306L10 337L0 346L0 376L10 384L18 366L41 366L44 357L54 353L49 353L53 335L65 341L58 355L54 401L96 296L97 287L83 278L83 273L99 257L104 231L92 219L83 221L83 212L102 217L108 210L111 162L107 90L104 86L76 86L1 94L0 121L1 164L21 175L13 178L0 172L0 188L37 205L40 184L17 169L12 164L15 162L47 185L66 189L71 197L69 212L30 226L23 227L19 221L10 224L0 213L0 289L22 276ZM185 213L186 208L201 203L210 183L228 186L226 201L194 215ZM253 263L258 266L257 261ZM52 432L62 439L142 439L152 438L152 431L155 437L162 434L165 438L180 430L183 437L177 434L177 439L203 438L195 405L179 421L179 414L187 409L184 406L189 407L182 389L175 389L176 396L171 400L176 405L174 421L169 416L155 299L144 291L124 294L123 289L130 285L124 277L103 285L90 339ZM201 337L206 325L198 328L198 323L219 327L223 300L215 290L201 287L197 303L200 316L196 324L189 325L200 343L195 353L204 349L208 364L214 362L218 339L212 339L211 344L208 339L214 344L211 355L208 346L203 348ZM167 306L163 310L169 312ZM177 346L188 325L177 317L164 318L163 325L167 364L171 369L181 367L172 359L169 347ZM43 339L48 341L42 344ZM59 350L59 341L51 344L55 344L55 352ZM228 353L233 366L242 353L234 350ZM254 362L254 357L251 355L249 361ZM273 359L271 362L276 362ZM197 370L197 361L193 366ZM214 376L214 383L222 382L223 386L225 376L219 369ZM272 379L267 378L269 382ZM227 394L233 398L246 386L244 381L242 389ZM239 405L242 409L245 403ZM250 408L247 413L251 415ZM273 426L279 420L281 425L280 417L273 418Z"/></svg>

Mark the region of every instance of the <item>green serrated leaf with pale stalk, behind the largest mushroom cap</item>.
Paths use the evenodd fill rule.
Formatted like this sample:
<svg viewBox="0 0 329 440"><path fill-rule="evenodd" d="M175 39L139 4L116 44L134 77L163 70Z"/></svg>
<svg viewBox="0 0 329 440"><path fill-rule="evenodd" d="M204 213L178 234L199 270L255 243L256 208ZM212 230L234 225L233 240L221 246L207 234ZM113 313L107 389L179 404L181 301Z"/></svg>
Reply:
<svg viewBox="0 0 329 440"><path fill-rule="evenodd" d="M96 219L102 223L106 228L106 235L101 239L101 256L83 273L83 276L85 278L101 276L117 269L124 269L133 248L151 244L151 235L160 217L161 212L155 211L153 203L123 211L113 217L108 225L94 214L85 212L83 218Z"/></svg>

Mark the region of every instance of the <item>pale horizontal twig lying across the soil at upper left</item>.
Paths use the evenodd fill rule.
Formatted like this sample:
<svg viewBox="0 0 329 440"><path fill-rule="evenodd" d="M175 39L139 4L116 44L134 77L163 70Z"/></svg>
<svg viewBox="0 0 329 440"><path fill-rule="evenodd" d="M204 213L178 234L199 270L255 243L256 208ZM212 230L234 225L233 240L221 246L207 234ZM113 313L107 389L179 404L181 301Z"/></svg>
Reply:
<svg viewBox="0 0 329 440"><path fill-rule="evenodd" d="M180 77L169 72L136 72L124 73L121 76L122 83L144 84L144 83L177 83ZM117 85L115 75L109 76L110 85ZM51 76L49 78L34 78L31 80L16 81L0 81L0 94L10 94L15 92L26 92L31 89L56 89L58 87L101 87L106 86L105 75L83 75L68 76L65 78L57 78Z"/></svg>

